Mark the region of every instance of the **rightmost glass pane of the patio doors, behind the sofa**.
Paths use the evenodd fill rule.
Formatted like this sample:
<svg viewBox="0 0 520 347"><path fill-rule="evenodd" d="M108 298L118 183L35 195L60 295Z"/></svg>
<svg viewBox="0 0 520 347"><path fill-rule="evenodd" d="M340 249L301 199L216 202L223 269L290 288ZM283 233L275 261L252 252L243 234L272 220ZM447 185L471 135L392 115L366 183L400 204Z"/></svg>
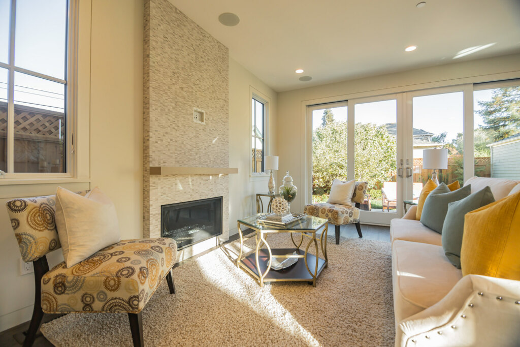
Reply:
<svg viewBox="0 0 520 347"><path fill-rule="evenodd" d="M520 86L475 91L475 176L520 179Z"/></svg>

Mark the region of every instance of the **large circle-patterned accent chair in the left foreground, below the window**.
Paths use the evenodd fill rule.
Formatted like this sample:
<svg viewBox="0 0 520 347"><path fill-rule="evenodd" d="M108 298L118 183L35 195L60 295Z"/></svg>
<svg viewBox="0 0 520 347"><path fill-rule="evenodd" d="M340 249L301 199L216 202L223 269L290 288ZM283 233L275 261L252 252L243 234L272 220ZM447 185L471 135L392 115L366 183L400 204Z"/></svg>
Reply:
<svg viewBox="0 0 520 347"><path fill-rule="evenodd" d="M69 268L62 262L49 270L46 254L61 247L55 202L55 195L7 202L22 259L34 265L34 310L23 345L33 344L44 313L124 312L134 346L142 346L141 310L164 277L170 293L175 293L171 272L177 256L175 240L122 240Z"/></svg>

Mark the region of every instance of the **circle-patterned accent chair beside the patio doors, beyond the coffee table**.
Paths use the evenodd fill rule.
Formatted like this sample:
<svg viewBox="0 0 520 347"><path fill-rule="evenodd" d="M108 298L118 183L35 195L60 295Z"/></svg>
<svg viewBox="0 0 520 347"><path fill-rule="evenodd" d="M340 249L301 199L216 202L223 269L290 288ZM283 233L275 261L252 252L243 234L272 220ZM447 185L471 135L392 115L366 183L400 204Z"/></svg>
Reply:
<svg viewBox="0 0 520 347"><path fill-rule="evenodd" d="M339 205L335 203L311 203L305 205L303 213L328 219L330 223L334 224L336 231L336 245L340 244L340 226L344 224L355 224L359 237L363 237L361 233L361 225L359 224L359 207L365 202L367 196L367 182L356 182L354 194L352 195L352 202L355 207Z"/></svg>

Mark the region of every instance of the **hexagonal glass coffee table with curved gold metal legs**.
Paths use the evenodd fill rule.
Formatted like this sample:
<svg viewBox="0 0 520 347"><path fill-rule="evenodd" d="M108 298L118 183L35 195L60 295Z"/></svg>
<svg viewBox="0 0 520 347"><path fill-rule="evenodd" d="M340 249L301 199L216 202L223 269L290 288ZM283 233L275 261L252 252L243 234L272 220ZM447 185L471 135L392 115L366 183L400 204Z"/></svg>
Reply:
<svg viewBox="0 0 520 347"><path fill-rule="evenodd" d="M300 220L293 222L288 227L277 227L258 222L258 217L267 213L257 213L238 220L238 233L240 236L240 253L237 259L237 267L243 268L250 273L263 287L264 282L268 281L307 281L316 287L316 279L321 274L323 268L328 266L327 258L327 230L328 221L326 219L304 215ZM244 238L241 226L251 228L255 232L256 249L250 255L242 257ZM271 248L267 241L268 234L288 233L295 248ZM294 234L301 234L300 237ZM318 236L316 235L318 234ZM298 238L300 239L298 241ZM305 251L301 250L304 238L308 239L304 245ZM319 258L320 248L323 258ZM315 253L308 253L309 248L314 243ZM265 248L264 248L265 246ZM293 254L296 252L296 254ZM271 269L273 258L298 258L293 265L280 270ZM303 261L300 259L303 258Z"/></svg>

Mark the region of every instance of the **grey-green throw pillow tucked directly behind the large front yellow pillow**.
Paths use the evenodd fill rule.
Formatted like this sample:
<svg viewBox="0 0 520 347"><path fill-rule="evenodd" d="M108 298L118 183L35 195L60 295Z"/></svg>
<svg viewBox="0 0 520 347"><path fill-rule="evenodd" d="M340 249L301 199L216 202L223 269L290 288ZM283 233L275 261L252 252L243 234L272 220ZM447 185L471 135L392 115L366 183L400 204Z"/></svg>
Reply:
<svg viewBox="0 0 520 347"><path fill-rule="evenodd" d="M448 213L443 225L443 248L451 264L460 268L460 249L464 232L464 215L495 201L491 188L486 187L470 196L448 204Z"/></svg>

